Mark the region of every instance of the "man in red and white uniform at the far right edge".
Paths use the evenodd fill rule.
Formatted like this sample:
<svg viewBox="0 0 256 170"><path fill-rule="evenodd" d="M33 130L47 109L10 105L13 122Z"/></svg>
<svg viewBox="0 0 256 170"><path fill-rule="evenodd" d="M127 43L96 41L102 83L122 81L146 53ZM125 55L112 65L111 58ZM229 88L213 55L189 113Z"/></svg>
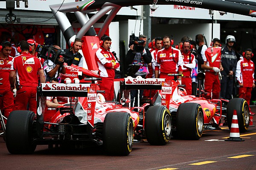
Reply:
<svg viewBox="0 0 256 170"><path fill-rule="evenodd" d="M251 61L252 50L247 48L243 52L243 57L244 59L240 59L236 65L236 79L239 82L239 98L244 98L250 105L251 92L255 88L254 63ZM250 115L255 115L255 113L250 111Z"/></svg>

